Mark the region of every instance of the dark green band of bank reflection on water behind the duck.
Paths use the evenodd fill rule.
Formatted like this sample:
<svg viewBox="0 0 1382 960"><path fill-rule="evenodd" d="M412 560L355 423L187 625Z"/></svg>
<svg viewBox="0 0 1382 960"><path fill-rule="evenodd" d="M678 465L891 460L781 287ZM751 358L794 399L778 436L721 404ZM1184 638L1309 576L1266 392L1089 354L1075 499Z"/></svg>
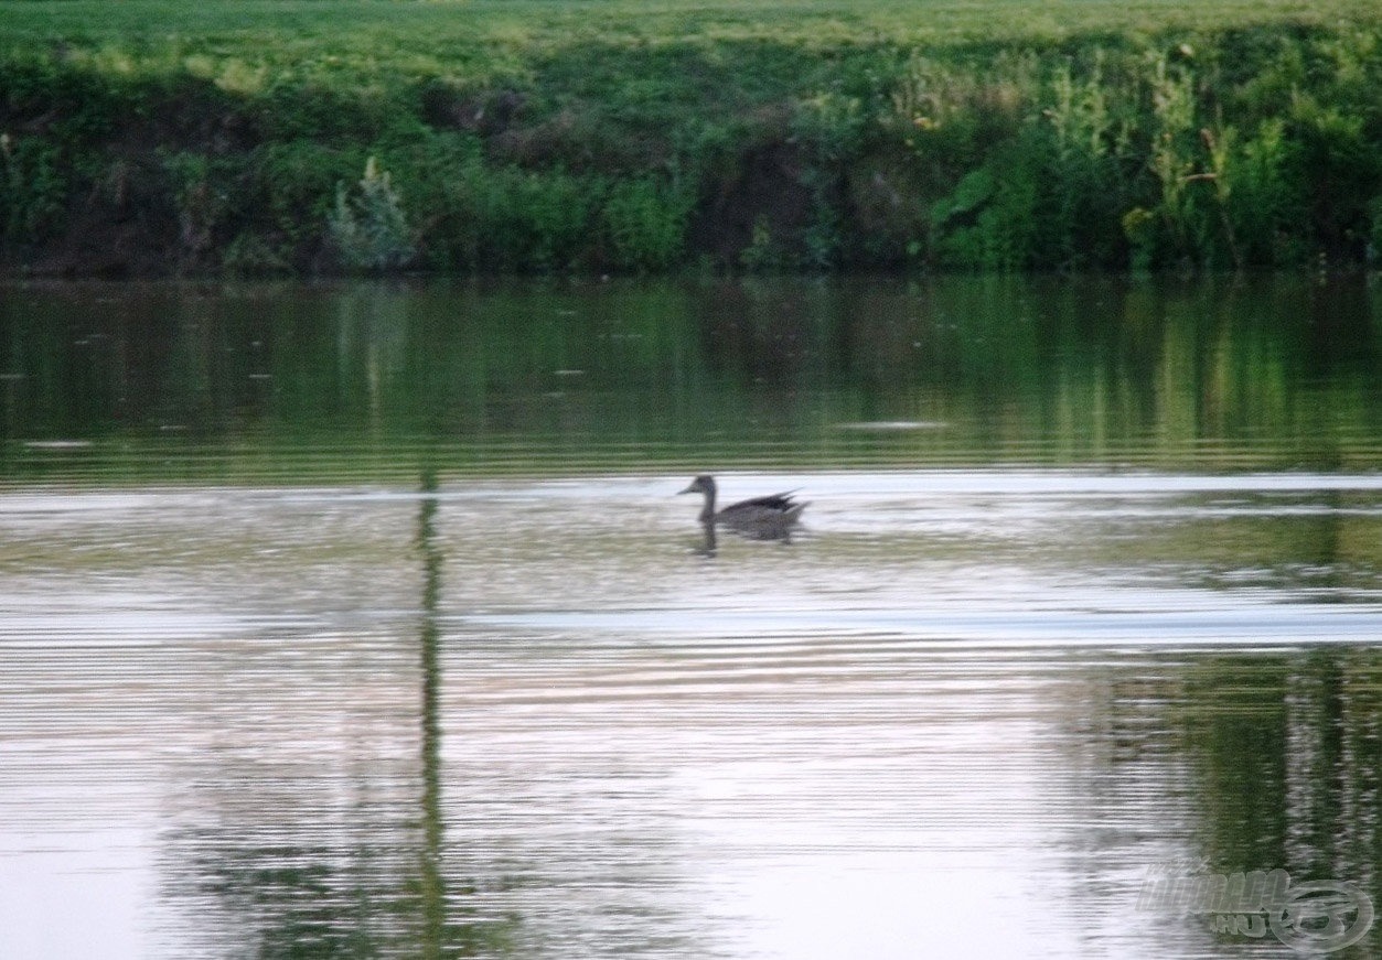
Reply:
<svg viewBox="0 0 1382 960"><path fill-rule="evenodd" d="M1363 279L19 286L8 481L1371 468ZM86 446L53 441L84 441Z"/></svg>

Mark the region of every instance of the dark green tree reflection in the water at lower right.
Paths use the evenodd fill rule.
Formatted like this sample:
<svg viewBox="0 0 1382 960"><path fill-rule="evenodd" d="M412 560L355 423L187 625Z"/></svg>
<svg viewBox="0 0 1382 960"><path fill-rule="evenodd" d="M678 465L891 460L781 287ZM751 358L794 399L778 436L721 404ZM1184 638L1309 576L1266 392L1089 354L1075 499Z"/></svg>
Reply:
<svg viewBox="0 0 1382 960"><path fill-rule="evenodd" d="M1349 883L1382 903L1379 653L1206 655L1184 677L1165 720L1190 764L1190 819L1166 827L1190 843L1189 859L1213 874ZM1372 930L1338 956L1379 948Z"/></svg>

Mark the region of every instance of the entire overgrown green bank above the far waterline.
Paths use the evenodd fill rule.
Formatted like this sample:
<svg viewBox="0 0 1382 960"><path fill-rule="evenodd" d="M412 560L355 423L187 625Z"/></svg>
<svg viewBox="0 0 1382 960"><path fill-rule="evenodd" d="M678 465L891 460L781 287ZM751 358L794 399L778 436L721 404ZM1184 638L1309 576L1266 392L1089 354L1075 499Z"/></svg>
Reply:
<svg viewBox="0 0 1382 960"><path fill-rule="evenodd" d="M0 0L0 258L1365 264L1378 91L1349 0Z"/></svg>

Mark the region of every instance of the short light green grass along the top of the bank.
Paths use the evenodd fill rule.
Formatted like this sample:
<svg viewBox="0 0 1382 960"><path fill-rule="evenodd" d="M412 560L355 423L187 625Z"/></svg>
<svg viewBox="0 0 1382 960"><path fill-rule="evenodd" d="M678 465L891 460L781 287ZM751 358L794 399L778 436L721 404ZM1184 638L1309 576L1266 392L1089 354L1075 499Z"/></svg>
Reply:
<svg viewBox="0 0 1382 960"><path fill-rule="evenodd" d="M191 75L238 94L285 77L366 87L448 77L540 79L557 97L609 94L630 79L612 69L625 57L656 62L669 50L695 50L728 68L742 95L767 101L799 93L861 50L1379 19L1371 0L3 0L0 50L22 57L61 47L66 62L112 77ZM731 59L745 47L750 59ZM817 69L800 69L802 57L822 55ZM662 79L698 86L691 76Z"/></svg>

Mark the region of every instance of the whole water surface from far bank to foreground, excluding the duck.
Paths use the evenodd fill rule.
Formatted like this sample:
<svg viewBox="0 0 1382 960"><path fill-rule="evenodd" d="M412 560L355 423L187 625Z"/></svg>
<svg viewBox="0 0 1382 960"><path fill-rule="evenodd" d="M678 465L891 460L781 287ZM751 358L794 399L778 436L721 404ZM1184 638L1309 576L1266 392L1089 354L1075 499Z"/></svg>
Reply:
<svg viewBox="0 0 1382 960"><path fill-rule="evenodd" d="M1376 279L0 286L6 960L1376 909Z"/></svg>

